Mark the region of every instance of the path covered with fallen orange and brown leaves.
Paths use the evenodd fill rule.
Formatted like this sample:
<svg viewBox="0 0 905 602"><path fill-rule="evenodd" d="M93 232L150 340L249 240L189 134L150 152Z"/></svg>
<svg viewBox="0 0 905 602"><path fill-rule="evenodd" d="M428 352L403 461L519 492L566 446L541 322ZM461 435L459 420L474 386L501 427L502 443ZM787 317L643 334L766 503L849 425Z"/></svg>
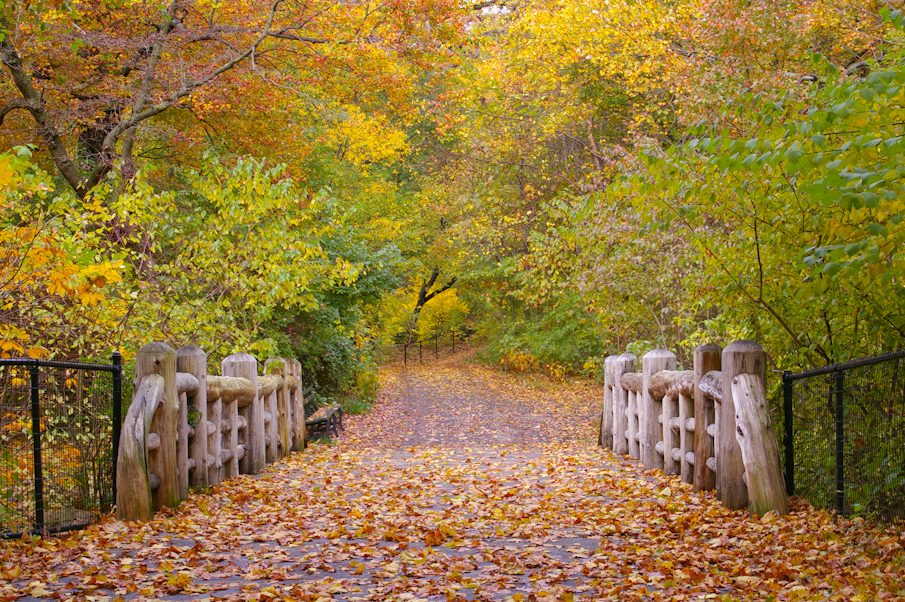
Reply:
<svg viewBox="0 0 905 602"><path fill-rule="evenodd" d="M905 600L903 535L727 511L596 448L593 385L461 360L150 522L0 543L0 600Z"/></svg>

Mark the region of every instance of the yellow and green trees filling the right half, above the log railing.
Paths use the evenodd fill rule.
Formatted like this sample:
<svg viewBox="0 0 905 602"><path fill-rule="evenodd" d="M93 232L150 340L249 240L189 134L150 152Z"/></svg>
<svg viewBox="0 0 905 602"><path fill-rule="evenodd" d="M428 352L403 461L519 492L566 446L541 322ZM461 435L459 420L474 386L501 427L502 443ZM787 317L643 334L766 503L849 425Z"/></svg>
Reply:
<svg viewBox="0 0 905 602"><path fill-rule="evenodd" d="M834 0L642 3L629 39L608 28L637 12L598 22L614 6L487 20L474 116L449 142L472 160L434 185L458 199L459 295L488 359L593 371L668 347L687 366L751 338L794 370L901 347L899 13L865 4L869 30Z"/></svg>

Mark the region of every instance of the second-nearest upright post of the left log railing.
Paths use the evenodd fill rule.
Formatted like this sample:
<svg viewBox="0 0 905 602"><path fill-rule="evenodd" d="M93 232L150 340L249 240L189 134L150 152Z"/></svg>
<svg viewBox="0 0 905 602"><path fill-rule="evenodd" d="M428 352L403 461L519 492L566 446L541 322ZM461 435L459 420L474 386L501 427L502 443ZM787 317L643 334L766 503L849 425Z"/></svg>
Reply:
<svg viewBox="0 0 905 602"><path fill-rule="evenodd" d="M194 345L180 347L176 352L176 369L191 374L198 380L194 395L186 396L186 416L189 431L187 449L187 485L207 487L208 481L208 408L207 408L207 354ZM181 413L181 412L180 412ZM213 456L211 456L213 459Z"/></svg>

